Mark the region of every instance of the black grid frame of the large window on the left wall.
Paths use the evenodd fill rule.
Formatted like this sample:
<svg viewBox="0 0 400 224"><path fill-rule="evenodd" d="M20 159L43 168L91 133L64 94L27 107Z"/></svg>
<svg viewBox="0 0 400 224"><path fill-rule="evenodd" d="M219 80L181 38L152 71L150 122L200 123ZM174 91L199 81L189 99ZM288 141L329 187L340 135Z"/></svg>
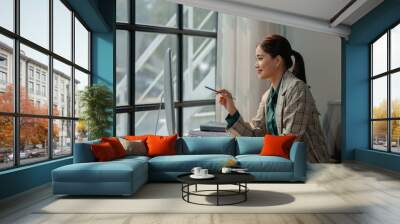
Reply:
<svg viewBox="0 0 400 224"><path fill-rule="evenodd" d="M75 143L75 126L76 126L76 121L79 120L78 117L75 116L75 109L72 107L72 114L70 116L56 116L53 115L53 59L58 60L61 63L64 63L68 66L71 66L71 83L74 82L75 80L75 69L87 74L89 76L89 83L88 85L91 86L93 82L93 76L92 76L92 62L91 62L91 52L92 52L92 43L91 43L91 37L92 37L92 30L89 28L87 23L77 14L73 8L70 6L70 4L66 0L59 0L69 11L71 11L71 18L69 19L71 22L71 59L64 58L63 56L55 53L53 50L53 1L54 0L48 0L49 2L49 47L46 49L45 47L42 47L39 44L34 43L33 41L30 41L27 38L24 38L23 36L20 35L20 0L14 0L13 1L13 10L14 10L14 31L10 31L4 27L0 26L0 35L3 35L7 38L12 39L13 41L13 64L12 64L12 74L14 78L14 109L13 112L2 112L0 111L0 116L4 117L12 117L13 119L13 166L10 167L5 167L5 168L0 168L0 172L5 171L5 170L12 170L24 166L31 166L34 164L40 164L43 162L51 161L51 160L59 160L67 157L71 157L74 154L74 143ZM84 26L84 28L88 31L88 57L89 57L89 67L88 69L85 69L78 64L75 63L75 25L74 25L74 20L75 18L79 20L79 22ZM42 54L45 54L48 56L48 76L47 76L47 84L45 85L45 95L48 97L48 107L49 110L46 115L39 115L39 114L26 114L26 113L21 113L20 112L20 64L21 64L21 57L20 57L20 45L23 44L29 48L32 48L33 50L36 50ZM30 70L31 66L27 64L27 73L26 75L26 81L32 81L35 86L36 83L40 83L40 94L38 96L42 96L42 72L39 72L39 79L36 79L36 72L38 71L37 68L32 67L33 69ZM31 79L31 74L30 71L33 72L33 77ZM75 85L71 86L71 92L72 92L72 105L75 103ZM27 86L28 87L28 86ZM28 87L29 88L29 87ZM29 89L27 88L27 91ZM36 89L34 88L34 92L36 92ZM36 103L36 102L33 102ZM48 155L47 157L44 157L43 160L37 161L37 162L31 162L31 163L26 163L22 164L21 163L21 158L20 158L20 119L21 118L45 118L47 119L48 123L48 134L47 134L47 151ZM67 120L71 121L72 127L71 127L71 153L68 155L62 155L62 156L54 156L54 147L53 147L53 122L56 120ZM51 143L51 144L50 144Z"/></svg>

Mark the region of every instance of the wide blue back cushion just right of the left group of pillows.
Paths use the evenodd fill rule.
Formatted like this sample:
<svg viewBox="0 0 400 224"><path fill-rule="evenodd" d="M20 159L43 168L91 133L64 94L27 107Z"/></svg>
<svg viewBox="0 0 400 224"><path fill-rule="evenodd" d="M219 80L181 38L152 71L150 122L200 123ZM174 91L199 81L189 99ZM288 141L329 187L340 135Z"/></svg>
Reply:
<svg viewBox="0 0 400 224"><path fill-rule="evenodd" d="M182 137L178 141L178 154L235 155L235 139L232 137Z"/></svg>

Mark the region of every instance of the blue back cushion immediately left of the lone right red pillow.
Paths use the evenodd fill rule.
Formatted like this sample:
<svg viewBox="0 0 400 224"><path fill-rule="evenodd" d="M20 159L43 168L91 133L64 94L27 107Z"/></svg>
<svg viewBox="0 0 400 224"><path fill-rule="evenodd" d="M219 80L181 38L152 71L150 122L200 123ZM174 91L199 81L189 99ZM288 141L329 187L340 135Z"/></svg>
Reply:
<svg viewBox="0 0 400 224"><path fill-rule="evenodd" d="M236 155L259 154L264 137L237 137Z"/></svg>

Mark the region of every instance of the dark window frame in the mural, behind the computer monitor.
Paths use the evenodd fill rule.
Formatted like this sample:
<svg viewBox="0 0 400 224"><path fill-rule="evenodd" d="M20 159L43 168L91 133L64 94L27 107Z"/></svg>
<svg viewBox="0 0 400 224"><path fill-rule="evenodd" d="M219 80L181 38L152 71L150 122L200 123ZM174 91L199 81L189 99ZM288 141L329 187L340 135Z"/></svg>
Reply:
<svg viewBox="0 0 400 224"><path fill-rule="evenodd" d="M115 0L116 1L116 0ZM198 106L210 106L215 105L214 99L204 99L204 100L184 100L183 96L183 41L184 36L194 36L194 37L206 37L206 38L214 38L216 41L216 49L218 48L218 12L216 13L216 31L201 31L188 29L184 27L184 14L183 14L183 5L177 4L177 27L164 27L164 26L155 26L155 25L143 25L136 24L136 15L135 15L135 1L128 0L129 2L129 21L128 22L118 22L116 21L116 31L127 31L129 32L129 57L131 60L129 61L129 72L128 72L128 80L129 80L129 96L128 96L128 105L126 106L116 106L116 69L114 69L114 77L113 77L113 90L114 90L114 101L115 101L115 113L114 113L114 123L113 130L114 135L116 134L116 118L117 114L127 114L128 115L128 134L135 135L135 112L142 111L158 111L159 109L165 109L164 103L147 103L147 104L136 104L135 102L135 33L136 32L146 32L146 33L155 33L155 34L172 34L177 36L178 44L177 44L177 101L174 102L174 108L176 111L177 118L177 132L179 136L183 136L183 109L187 107L198 107ZM116 9L117 10L117 9ZM116 40L116 33L114 32L114 39ZM115 44L114 44L115 46ZM116 56L116 50L114 49L114 54ZM114 56L114 58L115 58ZM215 61L215 71L217 75L217 67L218 63Z"/></svg>

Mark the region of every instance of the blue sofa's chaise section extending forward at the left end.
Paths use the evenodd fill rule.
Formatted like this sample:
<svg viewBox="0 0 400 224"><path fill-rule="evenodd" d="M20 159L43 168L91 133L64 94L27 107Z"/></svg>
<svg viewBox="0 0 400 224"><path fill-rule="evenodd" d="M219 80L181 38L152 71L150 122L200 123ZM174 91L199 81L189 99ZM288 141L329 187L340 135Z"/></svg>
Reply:
<svg viewBox="0 0 400 224"><path fill-rule="evenodd" d="M95 162L90 150L93 143L75 144L76 163L52 171L54 194L132 195L148 181L148 157Z"/></svg>

